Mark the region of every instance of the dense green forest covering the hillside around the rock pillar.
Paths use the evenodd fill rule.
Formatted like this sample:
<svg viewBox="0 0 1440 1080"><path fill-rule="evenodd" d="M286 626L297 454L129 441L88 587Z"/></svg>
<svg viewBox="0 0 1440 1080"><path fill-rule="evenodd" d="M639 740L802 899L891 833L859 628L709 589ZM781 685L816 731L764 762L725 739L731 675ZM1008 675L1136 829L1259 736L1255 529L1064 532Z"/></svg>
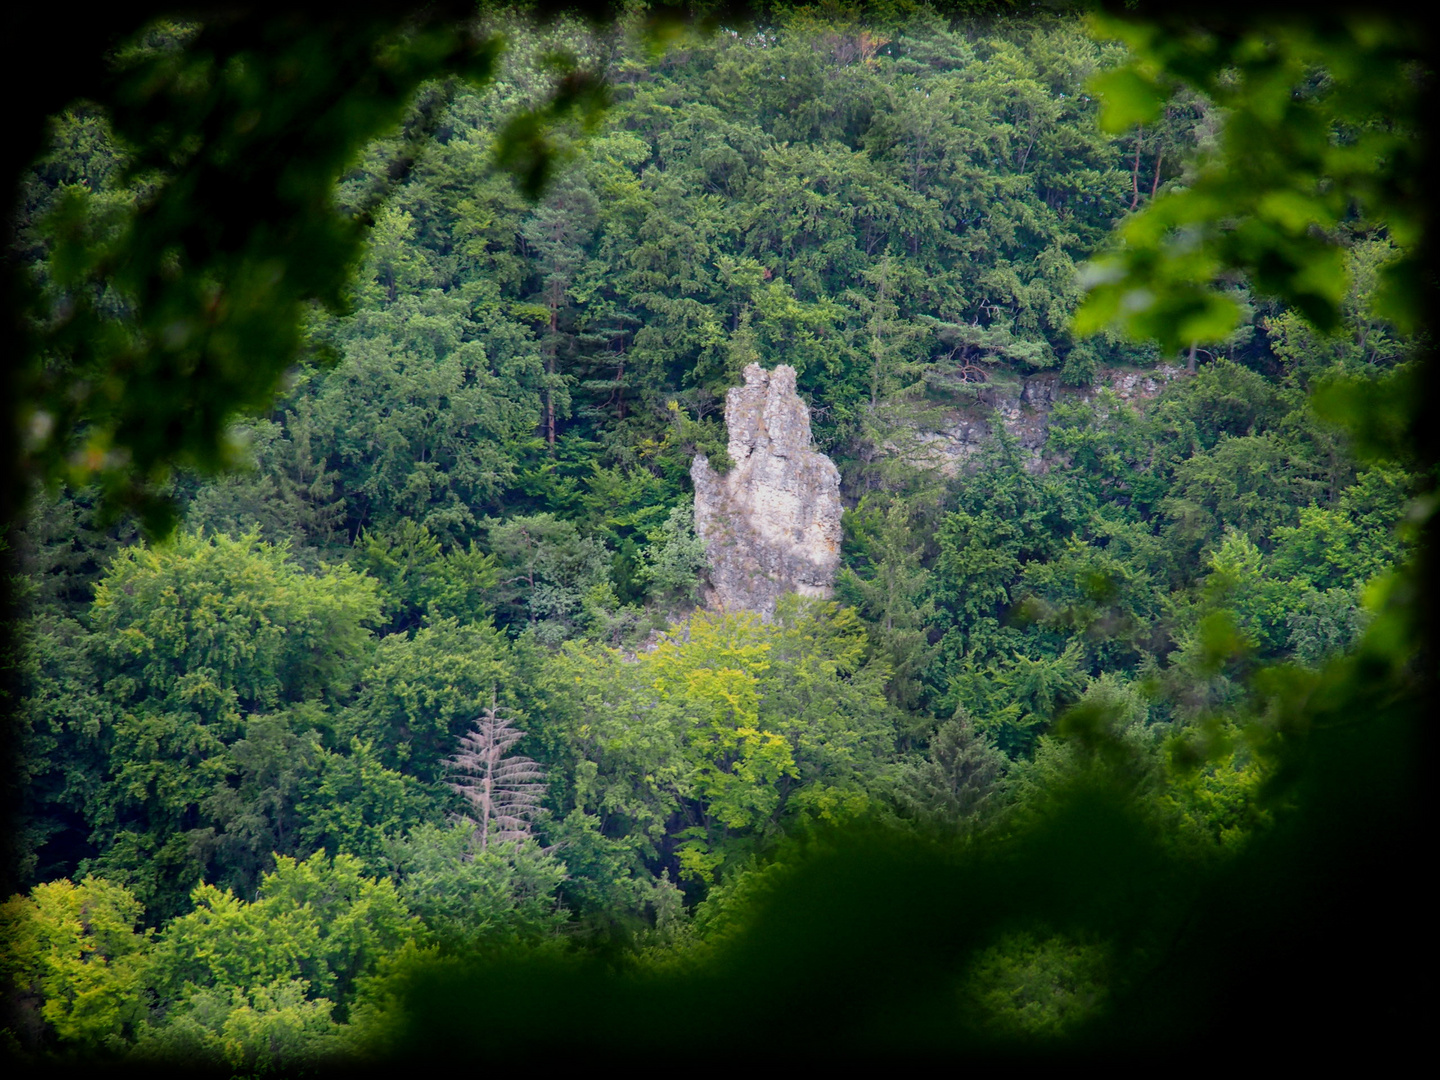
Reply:
<svg viewBox="0 0 1440 1080"><path fill-rule="evenodd" d="M1096 753L1156 851L1224 865L1292 808L1277 687L1351 654L1413 553L1424 467L1313 400L1424 343L1377 302L1384 222L1331 236L1335 327L1233 274L1238 323L1179 351L1073 330L1080 268L1204 181L1225 120L1179 91L1102 128L1120 42L487 17L494 78L425 84L333 189L373 219L348 311L307 311L228 472L157 488L173 534L76 481L4 537L16 1053L266 1071L383 1045L406 981L472 955L680 978L835 837L1007 844ZM492 148L567 65L611 99L552 128L530 200ZM53 120L16 212L36 295L145 206L135 153L98 105ZM795 367L847 508L835 598L772 619L704 608L693 523L749 363ZM1119 948L1005 926L956 1022L1061 1040Z"/></svg>

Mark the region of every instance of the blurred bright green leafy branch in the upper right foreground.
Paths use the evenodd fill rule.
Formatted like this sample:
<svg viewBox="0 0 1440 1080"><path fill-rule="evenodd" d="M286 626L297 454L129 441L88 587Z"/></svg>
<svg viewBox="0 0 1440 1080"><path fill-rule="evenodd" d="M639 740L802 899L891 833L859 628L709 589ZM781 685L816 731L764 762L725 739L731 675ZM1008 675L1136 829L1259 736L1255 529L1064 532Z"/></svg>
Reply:
<svg viewBox="0 0 1440 1080"><path fill-rule="evenodd" d="M1381 271L1375 308L1404 333L1423 314L1418 243L1424 35L1403 19L1331 13L1200 26L1184 13L1094 16L1133 60L1097 76L1102 124L1149 124L1181 85L1227 120L1184 184L1117 230L1086 269L1081 334L1116 325L1168 351L1223 340L1238 308L1218 285L1241 272L1322 331L1341 323L1344 236L1380 230L1401 249Z"/></svg>

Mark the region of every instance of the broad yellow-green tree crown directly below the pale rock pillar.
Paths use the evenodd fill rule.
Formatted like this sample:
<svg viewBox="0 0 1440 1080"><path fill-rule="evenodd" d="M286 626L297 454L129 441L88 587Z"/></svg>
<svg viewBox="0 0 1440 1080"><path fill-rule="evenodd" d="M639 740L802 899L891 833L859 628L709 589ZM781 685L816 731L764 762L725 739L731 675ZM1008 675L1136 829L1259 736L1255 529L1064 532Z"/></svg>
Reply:
<svg viewBox="0 0 1440 1080"><path fill-rule="evenodd" d="M697 881L799 816L852 812L894 752L888 672L867 651L854 611L795 596L770 622L696 613L634 657L567 645L540 724L564 721L560 802Z"/></svg>

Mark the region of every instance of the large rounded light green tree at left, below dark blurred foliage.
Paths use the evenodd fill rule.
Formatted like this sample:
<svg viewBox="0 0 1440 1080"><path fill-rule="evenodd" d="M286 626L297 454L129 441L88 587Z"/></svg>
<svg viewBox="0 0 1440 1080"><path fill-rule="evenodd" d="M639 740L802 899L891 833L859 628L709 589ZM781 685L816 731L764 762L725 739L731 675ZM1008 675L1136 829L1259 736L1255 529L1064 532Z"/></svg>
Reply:
<svg viewBox="0 0 1440 1080"><path fill-rule="evenodd" d="M96 868L150 910L179 912L215 848L209 801L240 772L229 747L248 717L347 696L379 613L372 579L307 575L255 536L177 534L118 554L91 612L115 703L108 775L86 808Z"/></svg>

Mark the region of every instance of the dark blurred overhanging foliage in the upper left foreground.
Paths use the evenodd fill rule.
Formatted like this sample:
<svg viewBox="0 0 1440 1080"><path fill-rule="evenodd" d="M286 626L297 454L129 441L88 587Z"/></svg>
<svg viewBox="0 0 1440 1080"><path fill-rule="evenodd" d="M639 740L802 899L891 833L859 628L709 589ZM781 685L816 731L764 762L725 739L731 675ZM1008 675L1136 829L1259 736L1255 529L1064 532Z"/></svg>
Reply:
<svg viewBox="0 0 1440 1080"><path fill-rule="evenodd" d="M171 471L232 467L230 420L269 406L297 360L327 359L307 312L348 308L384 197L455 88L491 79L504 48L468 3L197 14L108 43L72 115L109 153L26 207L23 242L45 251L45 272L16 281L22 474L98 485L108 511L160 536ZM560 156L554 128L572 115L593 127L606 104L573 58L550 73L552 92L497 143L530 197ZM397 127L384 173L338 206L336 179Z"/></svg>

